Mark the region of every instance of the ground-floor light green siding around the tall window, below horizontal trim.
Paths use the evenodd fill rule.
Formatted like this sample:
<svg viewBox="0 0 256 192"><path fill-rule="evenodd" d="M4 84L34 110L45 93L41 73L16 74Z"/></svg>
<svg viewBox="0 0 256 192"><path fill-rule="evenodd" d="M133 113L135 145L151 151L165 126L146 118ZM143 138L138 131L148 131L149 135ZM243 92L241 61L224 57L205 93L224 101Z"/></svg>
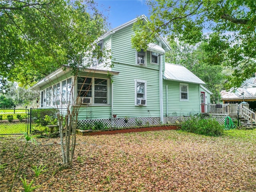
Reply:
<svg viewBox="0 0 256 192"><path fill-rule="evenodd" d="M124 64L116 69L120 74L113 77L113 112L119 118L160 116L158 70ZM147 82L147 106L135 106L135 80Z"/></svg>

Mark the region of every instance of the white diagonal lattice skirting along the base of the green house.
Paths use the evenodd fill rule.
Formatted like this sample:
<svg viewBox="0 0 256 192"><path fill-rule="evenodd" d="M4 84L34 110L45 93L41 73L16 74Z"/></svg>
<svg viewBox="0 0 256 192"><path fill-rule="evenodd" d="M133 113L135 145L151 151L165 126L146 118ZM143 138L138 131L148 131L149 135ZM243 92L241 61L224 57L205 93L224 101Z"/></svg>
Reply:
<svg viewBox="0 0 256 192"><path fill-rule="evenodd" d="M204 118L214 118L205 116ZM178 122L184 122L190 119L190 116L171 116L164 117L164 121L160 121L160 117L141 117L141 118L128 118L128 121L125 122L124 118L110 118L110 119L82 119L78 120L78 128L84 127L88 124L94 124L95 122L100 122L107 126L108 128L124 128L124 127L134 127L134 126L150 126L150 125L160 125L160 124L176 124ZM215 118L220 125L224 125L225 117L216 117ZM236 118L232 118L232 121Z"/></svg>

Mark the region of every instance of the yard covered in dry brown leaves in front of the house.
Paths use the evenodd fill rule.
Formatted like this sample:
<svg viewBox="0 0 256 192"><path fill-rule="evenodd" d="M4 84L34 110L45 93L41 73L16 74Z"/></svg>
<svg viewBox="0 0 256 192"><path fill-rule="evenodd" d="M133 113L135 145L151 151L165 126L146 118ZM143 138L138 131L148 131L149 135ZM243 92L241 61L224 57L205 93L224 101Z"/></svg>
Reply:
<svg viewBox="0 0 256 192"><path fill-rule="evenodd" d="M239 130L238 130L239 131ZM241 130L242 131L242 130ZM230 131L232 132L232 131ZM256 191L256 130L206 137L178 130L77 136L73 169L60 169L59 138L29 144L20 177L40 192ZM231 136L233 135L233 136ZM0 138L0 190L8 191L25 146L20 138ZM32 166L45 165L35 178Z"/></svg>

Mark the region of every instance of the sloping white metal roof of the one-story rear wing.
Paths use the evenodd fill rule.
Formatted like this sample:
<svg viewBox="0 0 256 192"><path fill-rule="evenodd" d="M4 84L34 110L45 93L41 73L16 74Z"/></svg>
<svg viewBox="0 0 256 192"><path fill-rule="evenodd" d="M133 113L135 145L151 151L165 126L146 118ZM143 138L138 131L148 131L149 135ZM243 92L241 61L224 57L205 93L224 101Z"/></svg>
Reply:
<svg viewBox="0 0 256 192"><path fill-rule="evenodd" d="M165 63L164 79L196 84L205 84L205 82L200 80L200 78L190 72L190 70L188 70L186 67L170 63Z"/></svg>

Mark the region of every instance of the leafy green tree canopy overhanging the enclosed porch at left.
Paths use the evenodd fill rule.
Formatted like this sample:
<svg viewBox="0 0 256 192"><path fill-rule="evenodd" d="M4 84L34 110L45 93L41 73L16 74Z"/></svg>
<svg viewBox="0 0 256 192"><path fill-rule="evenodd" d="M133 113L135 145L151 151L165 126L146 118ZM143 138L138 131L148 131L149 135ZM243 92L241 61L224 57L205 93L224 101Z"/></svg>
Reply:
<svg viewBox="0 0 256 192"><path fill-rule="evenodd" d="M78 66L105 24L94 2L82 0L3 0L0 15L0 78L23 85Z"/></svg>

